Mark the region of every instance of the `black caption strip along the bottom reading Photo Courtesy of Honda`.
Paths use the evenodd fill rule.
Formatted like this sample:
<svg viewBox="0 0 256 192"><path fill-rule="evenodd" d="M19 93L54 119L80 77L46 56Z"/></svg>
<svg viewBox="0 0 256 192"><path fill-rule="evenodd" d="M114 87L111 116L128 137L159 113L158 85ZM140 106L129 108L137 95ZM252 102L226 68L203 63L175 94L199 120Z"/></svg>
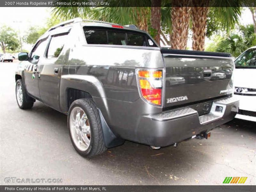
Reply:
<svg viewBox="0 0 256 192"><path fill-rule="evenodd" d="M256 191L256 186L248 186L248 185L222 185L222 186L173 186L173 185L164 185L164 186L116 186L116 185L106 185L106 186L83 186L83 185L65 185L65 186L54 186L54 185L2 185L0 186L1 192L207 192L207 191L225 191L225 192L249 192Z"/></svg>

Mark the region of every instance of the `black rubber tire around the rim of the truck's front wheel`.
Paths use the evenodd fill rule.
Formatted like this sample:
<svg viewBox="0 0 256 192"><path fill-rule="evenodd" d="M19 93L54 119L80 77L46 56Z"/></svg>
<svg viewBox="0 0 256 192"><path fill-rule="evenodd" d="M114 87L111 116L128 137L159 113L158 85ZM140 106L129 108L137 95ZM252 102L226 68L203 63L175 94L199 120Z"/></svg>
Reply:
<svg viewBox="0 0 256 192"><path fill-rule="evenodd" d="M18 88L19 85L21 86L21 89L22 89L22 103L21 104L18 102L18 98L17 98L17 88ZM17 104L18 104L19 108L21 108L21 109L30 109L30 108L33 107L35 99L28 96L27 92L25 91L25 87L24 87L23 82L22 82L21 79L18 79L17 82L16 82L15 93L16 93L16 100L17 100Z"/></svg>

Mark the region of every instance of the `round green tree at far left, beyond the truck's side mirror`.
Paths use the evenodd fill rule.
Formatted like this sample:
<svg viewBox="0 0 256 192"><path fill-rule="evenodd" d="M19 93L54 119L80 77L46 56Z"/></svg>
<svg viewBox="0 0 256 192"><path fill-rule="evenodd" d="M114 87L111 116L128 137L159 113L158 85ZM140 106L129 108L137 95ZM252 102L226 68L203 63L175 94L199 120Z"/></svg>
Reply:
<svg viewBox="0 0 256 192"><path fill-rule="evenodd" d="M5 53L6 50L15 51L19 48L19 39L17 33L9 26L0 28L0 46Z"/></svg>

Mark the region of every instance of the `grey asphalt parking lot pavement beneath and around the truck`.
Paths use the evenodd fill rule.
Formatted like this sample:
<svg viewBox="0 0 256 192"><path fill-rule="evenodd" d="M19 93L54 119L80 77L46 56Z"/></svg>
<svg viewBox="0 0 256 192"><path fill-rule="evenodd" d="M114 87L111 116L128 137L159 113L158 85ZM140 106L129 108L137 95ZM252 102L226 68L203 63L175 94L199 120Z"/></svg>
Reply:
<svg viewBox="0 0 256 192"><path fill-rule="evenodd" d="M153 150L126 141L85 159L71 145L66 115L39 101L30 110L18 108L17 65L0 63L1 185L13 184L5 183L6 177L62 179L56 184L63 185L221 185L225 177L248 177L244 185L256 185L255 123L236 119L213 130L208 140L177 148Z"/></svg>

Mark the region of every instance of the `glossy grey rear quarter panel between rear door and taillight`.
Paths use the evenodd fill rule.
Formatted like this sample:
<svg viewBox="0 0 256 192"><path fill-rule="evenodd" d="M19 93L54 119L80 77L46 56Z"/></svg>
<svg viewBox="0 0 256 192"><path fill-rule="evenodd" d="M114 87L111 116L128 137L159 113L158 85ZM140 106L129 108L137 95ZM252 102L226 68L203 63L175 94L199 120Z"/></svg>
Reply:
<svg viewBox="0 0 256 192"><path fill-rule="evenodd" d="M135 74L136 68L164 68L159 48L74 46L69 51L60 82L62 111L68 111L68 88L89 92L108 125L125 139L132 138L131 127L137 127L141 114L161 112L139 99ZM67 75L74 78L63 78Z"/></svg>

